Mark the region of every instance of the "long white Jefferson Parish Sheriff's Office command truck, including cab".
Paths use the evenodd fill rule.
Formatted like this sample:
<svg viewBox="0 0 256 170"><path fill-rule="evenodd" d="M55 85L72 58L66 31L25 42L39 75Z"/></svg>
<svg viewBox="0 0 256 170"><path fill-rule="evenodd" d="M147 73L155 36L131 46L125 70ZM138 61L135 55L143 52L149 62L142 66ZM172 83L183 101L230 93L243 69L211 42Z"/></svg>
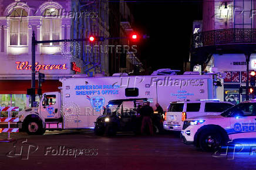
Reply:
<svg viewBox="0 0 256 170"><path fill-rule="evenodd" d="M19 112L19 128L29 134L94 128L106 104L120 98L147 98L164 111L170 101L214 98L211 75L75 76L59 81L60 92L44 93L38 107Z"/></svg>

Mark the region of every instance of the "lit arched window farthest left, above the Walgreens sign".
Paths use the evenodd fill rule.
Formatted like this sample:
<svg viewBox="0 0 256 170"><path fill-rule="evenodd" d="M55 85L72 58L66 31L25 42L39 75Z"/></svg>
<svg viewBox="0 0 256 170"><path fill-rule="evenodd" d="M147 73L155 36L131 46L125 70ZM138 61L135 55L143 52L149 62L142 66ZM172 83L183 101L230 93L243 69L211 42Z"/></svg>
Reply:
<svg viewBox="0 0 256 170"><path fill-rule="evenodd" d="M10 45L28 45L28 12L17 8L10 15Z"/></svg>

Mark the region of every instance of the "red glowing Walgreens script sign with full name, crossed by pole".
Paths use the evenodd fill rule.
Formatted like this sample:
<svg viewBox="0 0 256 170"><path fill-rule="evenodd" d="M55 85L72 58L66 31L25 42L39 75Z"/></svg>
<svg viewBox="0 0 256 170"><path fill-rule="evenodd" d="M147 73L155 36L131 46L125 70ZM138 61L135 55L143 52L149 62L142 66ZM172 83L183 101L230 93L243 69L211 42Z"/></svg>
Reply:
<svg viewBox="0 0 256 170"><path fill-rule="evenodd" d="M29 62L15 62L17 64L16 69L17 70L32 70L32 65L29 65ZM39 72L39 70L66 70L68 69L66 67L66 64L45 64L41 65L38 64L38 62L35 63L36 66L36 72Z"/></svg>

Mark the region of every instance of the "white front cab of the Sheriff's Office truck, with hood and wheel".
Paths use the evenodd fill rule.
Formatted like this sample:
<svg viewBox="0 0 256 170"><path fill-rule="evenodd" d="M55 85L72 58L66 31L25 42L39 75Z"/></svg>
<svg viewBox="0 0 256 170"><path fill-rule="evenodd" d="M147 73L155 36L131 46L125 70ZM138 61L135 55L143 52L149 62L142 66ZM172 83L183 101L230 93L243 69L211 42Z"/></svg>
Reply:
<svg viewBox="0 0 256 170"><path fill-rule="evenodd" d="M60 92L44 93L38 107L20 111L18 127L28 134L43 134L45 130L61 130L63 118Z"/></svg>

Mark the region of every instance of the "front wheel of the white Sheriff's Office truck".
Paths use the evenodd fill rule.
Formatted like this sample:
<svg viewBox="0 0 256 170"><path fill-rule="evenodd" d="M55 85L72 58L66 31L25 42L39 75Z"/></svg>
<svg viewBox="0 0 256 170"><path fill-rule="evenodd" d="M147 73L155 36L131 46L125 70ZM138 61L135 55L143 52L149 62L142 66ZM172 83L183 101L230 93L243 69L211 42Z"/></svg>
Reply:
<svg viewBox="0 0 256 170"><path fill-rule="evenodd" d="M43 129L42 123L39 120L26 121L25 130L29 135L42 135L45 133L45 129Z"/></svg>

